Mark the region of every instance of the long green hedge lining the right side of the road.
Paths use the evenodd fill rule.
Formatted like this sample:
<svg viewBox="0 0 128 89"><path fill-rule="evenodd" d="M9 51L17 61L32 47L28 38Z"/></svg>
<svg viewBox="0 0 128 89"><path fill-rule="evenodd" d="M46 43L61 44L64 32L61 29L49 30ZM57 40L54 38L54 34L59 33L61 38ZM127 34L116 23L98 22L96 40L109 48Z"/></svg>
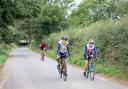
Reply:
<svg viewBox="0 0 128 89"><path fill-rule="evenodd" d="M63 34L69 36L71 64L84 65L84 61L80 60L83 59L83 47L88 39L92 38L98 50L99 64L118 66L128 73L128 17L124 17L120 21L99 21L82 29L69 28ZM57 41L61 36L62 33L50 35L51 48L56 48ZM98 71L100 70L99 68Z"/></svg>

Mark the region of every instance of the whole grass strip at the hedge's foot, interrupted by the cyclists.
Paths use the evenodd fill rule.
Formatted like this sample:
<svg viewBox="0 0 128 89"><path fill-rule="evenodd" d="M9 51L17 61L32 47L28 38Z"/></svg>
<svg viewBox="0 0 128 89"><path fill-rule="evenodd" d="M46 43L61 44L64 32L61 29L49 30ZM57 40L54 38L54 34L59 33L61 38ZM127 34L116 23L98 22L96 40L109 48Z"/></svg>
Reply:
<svg viewBox="0 0 128 89"><path fill-rule="evenodd" d="M55 59L56 58L55 51L53 49L49 49L47 51L47 56ZM85 60L79 56L72 57L71 59L68 58L68 63L83 68L85 64ZM96 61L94 65L95 65L95 72L98 74L103 74L109 77L115 77L117 79L128 81L128 75L125 73L124 70L122 70L122 68L119 68L117 66L112 66L110 64L106 64L101 60Z"/></svg>

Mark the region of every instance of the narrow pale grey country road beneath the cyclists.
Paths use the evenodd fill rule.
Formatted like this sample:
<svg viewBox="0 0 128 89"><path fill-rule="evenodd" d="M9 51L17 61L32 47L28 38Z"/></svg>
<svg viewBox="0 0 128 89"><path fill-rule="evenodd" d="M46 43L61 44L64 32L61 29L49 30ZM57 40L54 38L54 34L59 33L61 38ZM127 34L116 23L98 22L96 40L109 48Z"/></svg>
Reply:
<svg viewBox="0 0 128 89"><path fill-rule="evenodd" d="M94 81L85 79L81 70L68 66L68 79L59 79L56 62L28 48L14 49L5 64L8 75L3 89L128 89L110 80L96 76Z"/></svg>

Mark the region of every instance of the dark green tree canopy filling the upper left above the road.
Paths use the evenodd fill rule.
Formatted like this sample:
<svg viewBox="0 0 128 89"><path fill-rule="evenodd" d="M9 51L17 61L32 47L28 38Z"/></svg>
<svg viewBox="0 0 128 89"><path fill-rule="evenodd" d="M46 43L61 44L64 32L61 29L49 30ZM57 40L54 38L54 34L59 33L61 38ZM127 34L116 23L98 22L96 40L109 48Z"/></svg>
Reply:
<svg viewBox="0 0 128 89"><path fill-rule="evenodd" d="M27 39L42 39L44 35L62 30L67 26L65 14L68 3L71 1L1 0L0 41L6 43L10 38L15 38L17 33L20 35L24 34ZM13 30L8 28L8 26L12 26ZM12 31L15 32L15 35L9 34Z"/></svg>

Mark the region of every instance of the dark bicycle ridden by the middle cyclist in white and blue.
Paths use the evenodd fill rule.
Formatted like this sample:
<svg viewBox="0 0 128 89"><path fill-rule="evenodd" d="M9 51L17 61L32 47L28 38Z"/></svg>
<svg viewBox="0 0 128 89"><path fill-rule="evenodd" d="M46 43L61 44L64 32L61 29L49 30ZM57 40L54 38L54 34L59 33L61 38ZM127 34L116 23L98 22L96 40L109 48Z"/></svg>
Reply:
<svg viewBox="0 0 128 89"><path fill-rule="evenodd" d="M66 67L65 67L65 57L61 57L61 61L60 61L60 68L58 69L59 72L59 76L60 79L63 77L63 80L66 81L67 79L67 71L66 71Z"/></svg>

